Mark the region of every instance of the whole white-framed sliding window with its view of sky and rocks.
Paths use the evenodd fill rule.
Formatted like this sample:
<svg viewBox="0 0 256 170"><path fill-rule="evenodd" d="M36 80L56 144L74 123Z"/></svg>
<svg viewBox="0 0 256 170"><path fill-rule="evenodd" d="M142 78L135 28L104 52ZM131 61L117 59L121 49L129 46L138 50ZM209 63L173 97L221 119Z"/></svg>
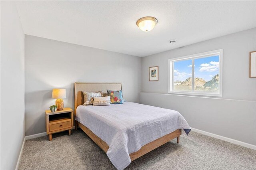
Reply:
<svg viewBox="0 0 256 170"><path fill-rule="evenodd" d="M222 97L222 49L169 59L169 93Z"/></svg>

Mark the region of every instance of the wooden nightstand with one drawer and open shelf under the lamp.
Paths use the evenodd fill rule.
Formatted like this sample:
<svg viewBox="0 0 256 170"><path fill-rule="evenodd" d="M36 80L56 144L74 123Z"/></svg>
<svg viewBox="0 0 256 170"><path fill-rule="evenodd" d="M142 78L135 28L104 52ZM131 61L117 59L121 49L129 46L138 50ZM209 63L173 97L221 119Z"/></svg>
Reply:
<svg viewBox="0 0 256 170"><path fill-rule="evenodd" d="M71 135L71 129L73 128L73 110L70 108L63 108L61 111L51 112L45 111L45 127L46 133L49 135L49 140L52 140L52 134L68 130L68 134Z"/></svg>

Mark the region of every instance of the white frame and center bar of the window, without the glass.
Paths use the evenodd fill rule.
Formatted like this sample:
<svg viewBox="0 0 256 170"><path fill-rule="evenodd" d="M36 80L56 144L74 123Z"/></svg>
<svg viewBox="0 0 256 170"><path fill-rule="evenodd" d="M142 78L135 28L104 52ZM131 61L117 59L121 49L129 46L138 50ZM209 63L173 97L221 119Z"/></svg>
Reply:
<svg viewBox="0 0 256 170"><path fill-rule="evenodd" d="M198 58L204 58L204 57L210 57L214 55L219 55L219 91L193 91L194 89L194 59ZM182 60L187 60L187 59L192 59L192 91L174 91L173 87L173 77L174 77L174 61L182 61ZM213 97L222 97L222 87L223 87L223 81L222 81L222 69L223 69L223 49L217 49L214 51L208 51L204 53L198 53L198 54L193 54L193 55L186 55L183 57L177 57L177 58L172 58L168 59L168 65L169 65L169 80L168 80L168 93L170 94L180 94L180 95L197 95L197 96L213 96ZM172 71L172 73L171 73Z"/></svg>

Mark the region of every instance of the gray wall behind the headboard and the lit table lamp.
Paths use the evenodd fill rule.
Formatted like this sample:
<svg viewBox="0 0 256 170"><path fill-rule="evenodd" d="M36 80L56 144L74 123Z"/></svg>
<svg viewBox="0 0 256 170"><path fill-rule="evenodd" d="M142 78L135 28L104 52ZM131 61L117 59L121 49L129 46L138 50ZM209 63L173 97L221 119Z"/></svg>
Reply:
<svg viewBox="0 0 256 170"><path fill-rule="evenodd" d="M127 101L138 102L142 58L25 36L26 136L45 132L44 111L52 89L66 89L64 107L74 109L74 82L120 82Z"/></svg>

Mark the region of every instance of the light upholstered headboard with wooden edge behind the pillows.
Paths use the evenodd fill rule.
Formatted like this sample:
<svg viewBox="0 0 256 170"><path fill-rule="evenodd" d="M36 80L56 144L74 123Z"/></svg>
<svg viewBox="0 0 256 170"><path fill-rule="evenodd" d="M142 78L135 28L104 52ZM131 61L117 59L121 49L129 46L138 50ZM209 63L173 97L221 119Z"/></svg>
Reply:
<svg viewBox="0 0 256 170"><path fill-rule="evenodd" d="M107 89L122 90L122 84L121 83L75 82L75 115L76 115L76 107L84 104L84 95L83 95L82 91L87 91L87 92L103 91L104 93L107 93Z"/></svg>

